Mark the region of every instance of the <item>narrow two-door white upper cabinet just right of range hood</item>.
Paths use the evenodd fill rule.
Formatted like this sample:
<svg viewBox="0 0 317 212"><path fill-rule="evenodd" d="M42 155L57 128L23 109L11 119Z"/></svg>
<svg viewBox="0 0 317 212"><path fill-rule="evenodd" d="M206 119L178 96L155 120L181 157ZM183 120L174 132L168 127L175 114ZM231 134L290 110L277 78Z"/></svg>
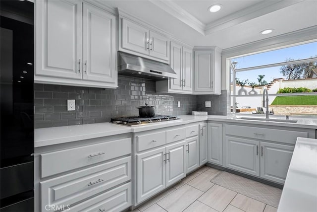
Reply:
<svg viewBox="0 0 317 212"><path fill-rule="evenodd" d="M176 72L176 79L156 82L158 93L186 93L193 91L193 51L181 44L170 42L170 67Z"/></svg>

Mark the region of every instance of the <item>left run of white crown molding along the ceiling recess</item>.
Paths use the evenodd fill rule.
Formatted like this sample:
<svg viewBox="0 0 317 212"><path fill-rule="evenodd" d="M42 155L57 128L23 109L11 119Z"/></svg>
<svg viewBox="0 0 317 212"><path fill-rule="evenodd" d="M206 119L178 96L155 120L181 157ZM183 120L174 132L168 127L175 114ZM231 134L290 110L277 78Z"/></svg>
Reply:
<svg viewBox="0 0 317 212"><path fill-rule="evenodd" d="M198 20L192 14L187 12L178 4L174 3L171 0L150 0L153 4L160 7L164 11L168 12L175 18L179 19L180 21L184 22L188 26L195 29L197 32L205 35L206 24Z"/></svg>

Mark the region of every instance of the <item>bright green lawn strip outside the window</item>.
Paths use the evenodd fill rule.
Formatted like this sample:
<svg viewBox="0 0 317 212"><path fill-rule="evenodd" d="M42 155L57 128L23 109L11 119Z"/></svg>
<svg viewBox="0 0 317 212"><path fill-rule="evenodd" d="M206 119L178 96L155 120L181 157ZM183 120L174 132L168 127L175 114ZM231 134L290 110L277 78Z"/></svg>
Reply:
<svg viewBox="0 0 317 212"><path fill-rule="evenodd" d="M271 105L317 105L317 95L276 96Z"/></svg>

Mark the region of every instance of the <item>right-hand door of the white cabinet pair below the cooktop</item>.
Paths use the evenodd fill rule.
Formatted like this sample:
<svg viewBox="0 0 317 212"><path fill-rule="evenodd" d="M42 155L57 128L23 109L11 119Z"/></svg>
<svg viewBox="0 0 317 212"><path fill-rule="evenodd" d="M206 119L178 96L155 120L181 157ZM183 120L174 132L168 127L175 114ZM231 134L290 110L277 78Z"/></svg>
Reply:
<svg viewBox="0 0 317 212"><path fill-rule="evenodd" d="M186 141L166 146L166 187L186 176Z"/></svg>

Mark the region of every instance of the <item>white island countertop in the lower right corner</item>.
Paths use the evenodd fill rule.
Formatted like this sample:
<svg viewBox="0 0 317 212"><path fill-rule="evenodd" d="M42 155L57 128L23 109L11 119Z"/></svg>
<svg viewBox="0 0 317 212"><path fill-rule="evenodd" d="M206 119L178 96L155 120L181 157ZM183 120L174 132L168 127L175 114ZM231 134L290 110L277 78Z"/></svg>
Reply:
<svg viewBox="0 0 317 212"><path fill-rule="evenodd" d="M316 139L297 139L277 212L317 212Z"/></svg>

